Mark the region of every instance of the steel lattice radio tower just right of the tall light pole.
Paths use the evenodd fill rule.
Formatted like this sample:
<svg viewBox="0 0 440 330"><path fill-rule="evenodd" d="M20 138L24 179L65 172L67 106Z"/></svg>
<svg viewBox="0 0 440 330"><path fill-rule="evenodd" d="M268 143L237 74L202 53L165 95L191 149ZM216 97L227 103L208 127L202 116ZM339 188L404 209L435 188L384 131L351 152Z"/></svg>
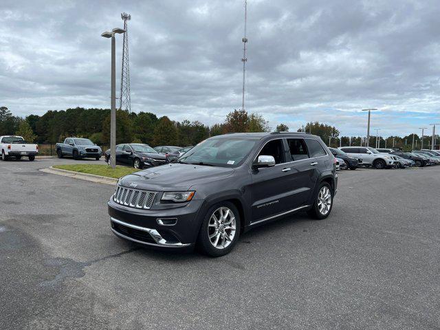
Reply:
<svg viewBox="0 0 440 330"><path fill-rule="evenodd" d="M122 70L121 70L121 92L119 98L119 109L131 112L130 98L130 65L129 65L129 31L127 21L131 20L131 15L123 12L121 19L124 21L124 43L122 43Z"/></svg>

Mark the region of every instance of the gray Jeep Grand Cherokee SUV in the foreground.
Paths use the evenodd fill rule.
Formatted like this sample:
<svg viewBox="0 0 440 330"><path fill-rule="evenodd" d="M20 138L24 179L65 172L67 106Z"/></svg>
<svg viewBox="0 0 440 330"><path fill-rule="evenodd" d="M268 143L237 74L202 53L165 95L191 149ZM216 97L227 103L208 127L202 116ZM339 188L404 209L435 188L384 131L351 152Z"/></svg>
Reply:
<svg viewBox="0 0 440 330"><path fill-rule="evenodd" d="M287 214L327 218L337 186L335 158L315 135L220 135L174 163L122 177L108 203L111 230L221 256L243 232Z"/></svg>

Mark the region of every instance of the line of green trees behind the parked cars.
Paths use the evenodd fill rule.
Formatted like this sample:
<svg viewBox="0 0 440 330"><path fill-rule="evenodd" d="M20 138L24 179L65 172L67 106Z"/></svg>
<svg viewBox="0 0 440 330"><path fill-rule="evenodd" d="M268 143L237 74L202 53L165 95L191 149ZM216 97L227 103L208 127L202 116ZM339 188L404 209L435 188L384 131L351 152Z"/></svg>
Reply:
<svg viewBox="0 0 440 330"><path fill-rule="evenodd" d="M197 120L181 122L167 116L158 118L151 112L128 113L116 111L116 143L145 143L152 146L175 145L193 146L207 137L225 133L267 132L269 123L262 115L234 110L226 115L224 122L207 126ZM286 124L278 124L275 131L289 131ZM365 145L365 137L340 136L335 126L320 122L308 122L298 129L321 137L327 145ZM0 135L21 135L25 140L36 143L61 142L65 137L87 137L96 144L109 144L110 109L73 108L61 111L47 111L43 115L28 115L20 118L12 115L5 107L0 107ZM410 150L413 135L380 137L380 147L392 146ZM375 146L375 136L370 137L370 146ZM421 146L419 135L414 134L415 147ZM423 137L423 145L430 146L430 137Z"/></svg>

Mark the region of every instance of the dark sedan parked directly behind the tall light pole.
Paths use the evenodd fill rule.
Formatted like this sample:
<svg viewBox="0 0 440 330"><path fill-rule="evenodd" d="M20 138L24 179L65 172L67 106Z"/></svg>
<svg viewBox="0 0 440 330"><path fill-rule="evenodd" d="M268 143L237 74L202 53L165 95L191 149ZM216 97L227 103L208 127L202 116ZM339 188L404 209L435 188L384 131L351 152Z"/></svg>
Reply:
<svg viewBox="0 0 440 330"><path fill-rule="evenodd" d="M105 152L105 162L110 164L110 149ZM116 164L144 168L164 165L167 162L165 155L158 153L148 144L126 143L116 146Z"/></svg>

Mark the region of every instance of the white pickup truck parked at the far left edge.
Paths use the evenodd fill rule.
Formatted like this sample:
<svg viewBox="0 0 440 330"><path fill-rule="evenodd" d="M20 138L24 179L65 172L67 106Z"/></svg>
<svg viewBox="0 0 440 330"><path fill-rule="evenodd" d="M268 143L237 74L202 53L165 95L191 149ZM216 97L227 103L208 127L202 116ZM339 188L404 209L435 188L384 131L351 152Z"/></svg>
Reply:
<svg viewBox="0 0 440 330"><path fill-rule="evenodd" d="M21 157L29 157L29 160L35 159L35 155L39 152L38 144L26 142L23 137L17 135L0 136L1 159L8 160L9 157L21 159Z"/></svg>

